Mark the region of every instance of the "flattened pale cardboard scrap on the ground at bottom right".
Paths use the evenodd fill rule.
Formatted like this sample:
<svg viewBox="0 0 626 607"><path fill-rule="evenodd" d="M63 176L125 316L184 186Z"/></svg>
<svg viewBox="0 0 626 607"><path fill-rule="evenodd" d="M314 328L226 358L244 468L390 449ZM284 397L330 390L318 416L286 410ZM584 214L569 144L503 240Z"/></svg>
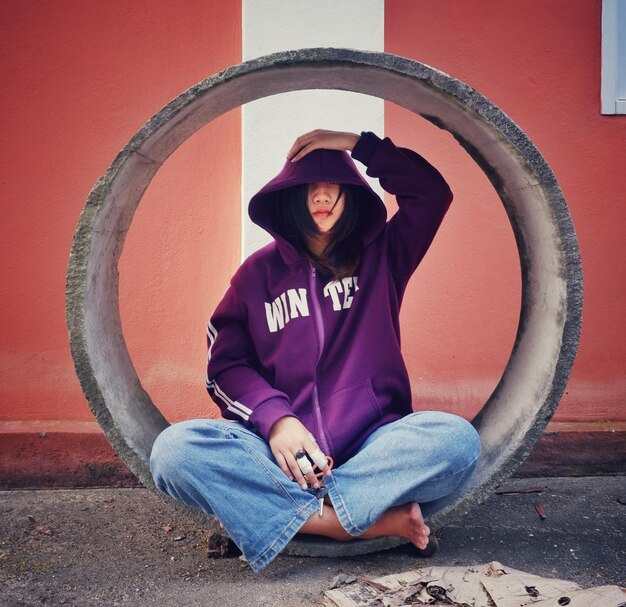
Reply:
<svg viewBox="0 0 626 607"><path fill-rule="evenodd" d="M626 594L617 586L583 590L566 580L544 578L497 561L474 567L425 567L360 579L327 590L325 607L620 607Z"/></svg>

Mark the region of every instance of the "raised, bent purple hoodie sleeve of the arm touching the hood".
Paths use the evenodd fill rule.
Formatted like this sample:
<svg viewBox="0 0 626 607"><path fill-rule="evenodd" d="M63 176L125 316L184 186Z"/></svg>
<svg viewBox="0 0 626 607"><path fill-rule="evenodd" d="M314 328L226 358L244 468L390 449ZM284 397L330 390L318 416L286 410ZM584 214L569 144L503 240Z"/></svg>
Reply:
<svg viewBox="0 0 626 607"><path fill-rule="evenodd" d="M424 257L450 203L452 192L439 171L419 154L389 138L363 133L352 156L367 166L383 189L396 196L398 212L386 227L391 272L406 284Z"/></svg>

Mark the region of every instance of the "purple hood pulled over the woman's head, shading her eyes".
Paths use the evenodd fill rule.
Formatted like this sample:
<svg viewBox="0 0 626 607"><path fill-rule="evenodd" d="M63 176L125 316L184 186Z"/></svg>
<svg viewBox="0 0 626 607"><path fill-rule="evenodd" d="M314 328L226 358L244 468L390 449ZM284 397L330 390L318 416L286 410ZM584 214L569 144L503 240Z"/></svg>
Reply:
<svg viewBox="0 0 626 607"><path fill-rule="evenodd" d="M387 210L347 152L313 150L297 162L288 160L280 173L250 199L250 219L269 232L281 248L288 245L273 224L276 193L296 185L322 181L356 186L357 202L363 211L363 244L370 243L383 229Z"/></svg>

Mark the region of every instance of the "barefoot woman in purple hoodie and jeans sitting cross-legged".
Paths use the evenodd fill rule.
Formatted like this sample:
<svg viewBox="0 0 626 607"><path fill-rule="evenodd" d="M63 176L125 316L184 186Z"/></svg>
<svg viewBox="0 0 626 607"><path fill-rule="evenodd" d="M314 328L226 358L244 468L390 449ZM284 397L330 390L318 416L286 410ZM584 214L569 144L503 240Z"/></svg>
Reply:
<svg viewBox="0 0 626 607"><path fill-rule="evenodd" d="M390 221L348 152L395 194ZM207 389L230 421L169 427L151 470L161 491L217 516L254 571L299 532L423 549L424 515L467 484L478 434L412 412L398 318L451 200L415 152L316 130L250 201L274 242L242 264L208 327Z"/></svg>

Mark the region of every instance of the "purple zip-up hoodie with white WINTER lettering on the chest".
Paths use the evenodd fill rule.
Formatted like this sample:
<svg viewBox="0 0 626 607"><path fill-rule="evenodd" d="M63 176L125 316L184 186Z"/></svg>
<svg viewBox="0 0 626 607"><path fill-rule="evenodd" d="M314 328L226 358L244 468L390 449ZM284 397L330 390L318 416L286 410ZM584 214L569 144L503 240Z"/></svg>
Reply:
<svg viewBox="0 0 626 607"><path fill-rule="evenodd" d="M398 212L386 221L382 200L345 152L288 161L249 206L274 242L241 265L208 327L207 389L222 415L265 440L276 421L297 417L335 465L412 411L400 304L452 201L434 167L388 138L363 133L352 157L396 196ZM317 275L272 224L274 192L320 181L358 186L366 208L361 262L339 281Z"/></svg>

